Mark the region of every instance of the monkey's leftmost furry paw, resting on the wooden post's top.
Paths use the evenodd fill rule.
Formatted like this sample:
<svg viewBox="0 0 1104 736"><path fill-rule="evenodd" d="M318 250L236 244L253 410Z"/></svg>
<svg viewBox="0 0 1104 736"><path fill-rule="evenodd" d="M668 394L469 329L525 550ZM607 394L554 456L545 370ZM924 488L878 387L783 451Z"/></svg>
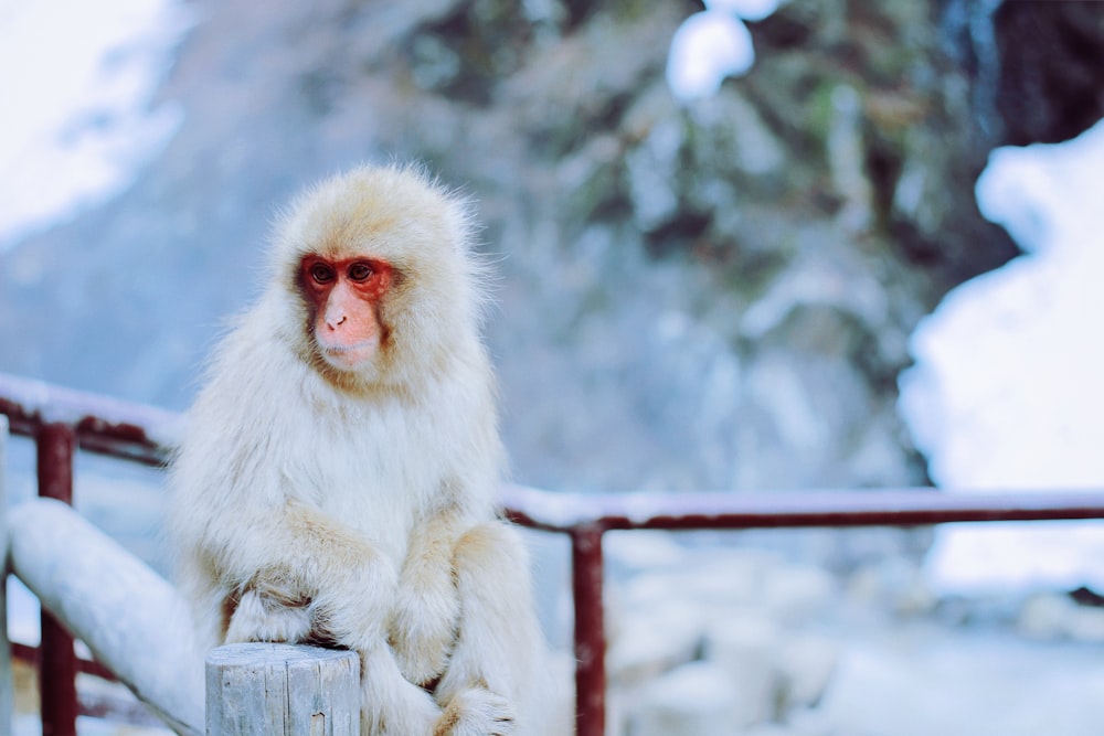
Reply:
<svg viewBox="0 0 1104 736"><path fill-rule="evenodd" d="M306 641L311 629L309 602L309 598L295 594L278 577L258 575L238 596L226 630L226 643Z"/></svg>

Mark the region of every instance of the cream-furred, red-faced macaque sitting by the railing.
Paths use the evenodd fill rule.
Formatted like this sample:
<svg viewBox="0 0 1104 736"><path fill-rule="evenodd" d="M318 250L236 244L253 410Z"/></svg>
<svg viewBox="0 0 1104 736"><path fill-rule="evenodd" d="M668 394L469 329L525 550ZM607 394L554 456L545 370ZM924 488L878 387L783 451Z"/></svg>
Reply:
<svg viewBox="0 0 1104 736"><path fill-rule="evenodd" d="M279 218L171 468L181 584L209 643L361 657L362 730L563 734L503 467L461 201L360 168Z"/></svg>

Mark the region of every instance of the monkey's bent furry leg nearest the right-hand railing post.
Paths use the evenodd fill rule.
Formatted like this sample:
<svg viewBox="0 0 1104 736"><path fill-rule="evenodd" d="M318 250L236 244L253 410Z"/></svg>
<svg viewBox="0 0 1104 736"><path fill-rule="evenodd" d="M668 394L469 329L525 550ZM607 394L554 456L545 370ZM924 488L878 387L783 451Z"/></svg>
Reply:
<svg viewBox="0 0 1104 736"><path fill-rule="evenodd" d="M460 627L436 691L445 712L434 735L532 733L532 714L519 708L549 693L538 692L544 644L524 545L506 524L481 524L457 541L453 564Z"/></svg>

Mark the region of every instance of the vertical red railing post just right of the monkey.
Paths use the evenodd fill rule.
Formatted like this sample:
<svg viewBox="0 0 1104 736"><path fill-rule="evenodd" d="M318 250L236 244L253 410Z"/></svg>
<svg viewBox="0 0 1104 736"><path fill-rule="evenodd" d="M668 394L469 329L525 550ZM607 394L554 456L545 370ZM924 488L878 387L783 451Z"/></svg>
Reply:
<svg viewBox="0 0 1104 736"><path fill-rule="evenodd" d="M606 727L606 630L602 605L602 534L598 524L571 530L575 598L575 736L602 736Z"/></svg>

